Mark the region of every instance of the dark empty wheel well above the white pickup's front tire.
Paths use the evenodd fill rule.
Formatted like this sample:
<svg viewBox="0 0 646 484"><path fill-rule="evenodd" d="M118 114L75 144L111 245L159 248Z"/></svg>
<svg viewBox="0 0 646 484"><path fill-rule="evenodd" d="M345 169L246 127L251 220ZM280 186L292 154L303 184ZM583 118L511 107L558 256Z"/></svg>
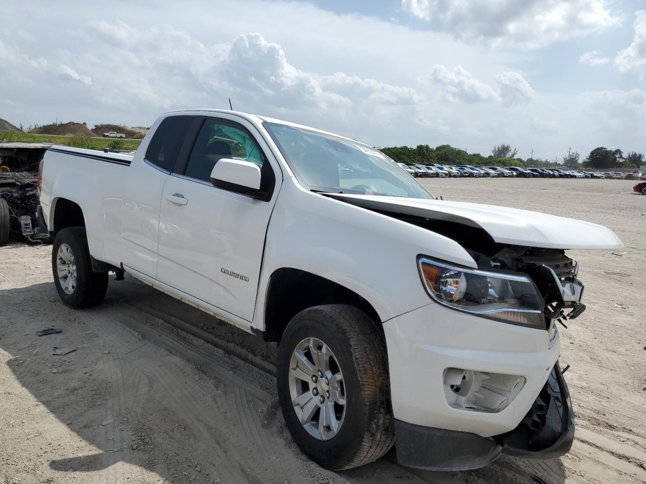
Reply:
<svg viewBox="0 0 646 484"><path fill-rule="evenodd" d="M339 283L304 270L280 268L269 280L264 339L280 341L287 324L298 312L324 304L354 306L366 312L375 323L381 321L375 308L366 299Z"/></svg>

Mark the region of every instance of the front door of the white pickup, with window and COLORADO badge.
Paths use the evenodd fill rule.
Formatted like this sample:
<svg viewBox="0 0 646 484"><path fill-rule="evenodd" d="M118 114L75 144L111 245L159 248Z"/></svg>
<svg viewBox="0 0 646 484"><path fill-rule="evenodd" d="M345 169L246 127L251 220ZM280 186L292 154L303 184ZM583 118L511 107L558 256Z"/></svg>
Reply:
<svg viewBox="0 0 646 484"><path fill-rule="evenodd" d="M203 118L191 152L165 183L157 278L251 322L280 168L256 128L231 119ZM224 158L260 166L267 201L214 187L211 170Z"/></svg>

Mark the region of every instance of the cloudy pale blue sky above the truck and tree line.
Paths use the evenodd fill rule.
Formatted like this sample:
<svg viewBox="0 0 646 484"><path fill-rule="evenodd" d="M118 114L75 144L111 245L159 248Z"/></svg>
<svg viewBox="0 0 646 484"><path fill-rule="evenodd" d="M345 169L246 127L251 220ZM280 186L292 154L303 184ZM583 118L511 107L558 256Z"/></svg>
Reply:
<svg viewBox="0 0 646 484"><path fill-rule="evenodd" d="M2 0L0 118L150 126L182 108L373 146L646 152L644 0Z"/></svg>

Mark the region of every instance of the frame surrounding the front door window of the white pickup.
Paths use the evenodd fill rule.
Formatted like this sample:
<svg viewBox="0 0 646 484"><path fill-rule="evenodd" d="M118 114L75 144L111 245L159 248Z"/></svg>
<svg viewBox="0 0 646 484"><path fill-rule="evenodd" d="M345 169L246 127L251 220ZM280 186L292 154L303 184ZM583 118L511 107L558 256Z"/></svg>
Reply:
<svg viewBox="0 0 646 484"><path fill-rule="evenodd" d="M241 125L240 123L237 123L236 121L231 121L230 119L222 119L221 117L215 117L215 116L195 116L195 120L193 121L193 123L191 123L191 126L189 126L189 130L187 131L184 142L182 143L182 148L180 148L180 152L177 156L175 167L172 170L171 175L185 180L194 181L196 183L201 183L202 185L208 185L209 187L213 187L216 190L224 190L224 188L214 187L212 183L209 183L207 181L185 175L186 167L189 163L189 157L191 156L191 152L193 152L195 142L198 139L198 135L200 134L200 131L204 126L204 123L206 123L207 121L215 121L216 123L229 125L233 128L242 130L246 134L248 134L251 137L251 139L253 139L253 141L258 146L258 149L262 153L262 156L265 157L265 160L262 163L262 167L260 168L261 170L260 183L262 185L262 177L267 176L266 174L267 172L263 171L263 168L265 166L267 166L267 168L265 168L266 170L271 170L270 172L271 174L269 176L271 176L271 178L273 179L273 183L271 183L271 187L269 187L269 189L266 191L266 194L262 198L258 198L258 199L261 201L271 200L271 197L273 196L274 190L276 188L276 172L273 166L271 166L271 163L269 163L269 157L267 156L265 150L262 149L262 146L260 145L260 143L258 143L258 139L256 138L256 136L253 136L253 134L251 134L251 131L249 131L247 128L245 128L245 126ZM230 191L230 190L225 190L225 191Z"/></svg>

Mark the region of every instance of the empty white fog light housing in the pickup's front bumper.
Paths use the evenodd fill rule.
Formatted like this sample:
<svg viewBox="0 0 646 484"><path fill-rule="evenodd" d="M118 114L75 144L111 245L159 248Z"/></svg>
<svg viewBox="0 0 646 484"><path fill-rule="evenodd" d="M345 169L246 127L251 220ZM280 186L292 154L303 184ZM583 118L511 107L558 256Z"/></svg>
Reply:
<svg viewBox="0 0 646 484"><path fill-rule="evenodd" d="M525 386L525 377L462 368L444 370L446 402L459 410L497 413Z"/></svg>

